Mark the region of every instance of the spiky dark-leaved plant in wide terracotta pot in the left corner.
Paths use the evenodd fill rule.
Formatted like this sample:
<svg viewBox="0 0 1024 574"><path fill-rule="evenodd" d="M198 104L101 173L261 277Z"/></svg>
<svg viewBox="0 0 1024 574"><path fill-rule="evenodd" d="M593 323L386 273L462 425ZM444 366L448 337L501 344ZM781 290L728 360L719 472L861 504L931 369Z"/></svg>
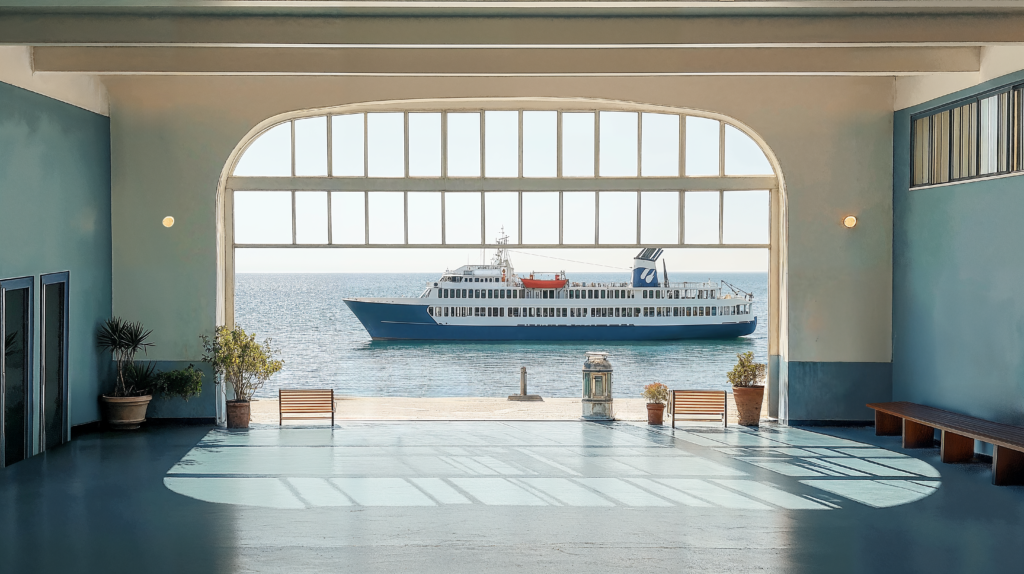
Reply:
<svg viewBox="0 0 1024 574"><path fill-rule="evenodd" d="M153 363L136 363L135 355L153 347L153 343L147 341L152 334L142 323L126 321L121 317L108 319L96 334L96 344L100 349L111 351L117 363L114 393L99 397L103 421L111 428L137 429L145 422L145 411L153 399L150 391L155 368Z"/></svg>

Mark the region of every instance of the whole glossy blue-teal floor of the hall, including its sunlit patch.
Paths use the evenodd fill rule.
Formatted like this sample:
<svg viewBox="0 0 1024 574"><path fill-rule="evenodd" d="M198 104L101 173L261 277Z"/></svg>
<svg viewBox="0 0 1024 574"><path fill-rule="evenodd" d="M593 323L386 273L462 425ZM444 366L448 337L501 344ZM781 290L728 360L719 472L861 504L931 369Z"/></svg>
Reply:
<svg viewBox="0 0 1024 574"><path fill-rule="evenodd" d="M989 480L871 429L148 429L0 471L0 570L1019 571Z"/></svg>

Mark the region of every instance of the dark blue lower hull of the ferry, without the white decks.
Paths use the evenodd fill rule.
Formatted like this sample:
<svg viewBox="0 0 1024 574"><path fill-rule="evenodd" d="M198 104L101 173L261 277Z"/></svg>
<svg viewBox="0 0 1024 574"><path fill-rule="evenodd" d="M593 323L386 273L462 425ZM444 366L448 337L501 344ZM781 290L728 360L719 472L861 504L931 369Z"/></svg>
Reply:
<svg viewBox="0 0 1024 574"><path fill-rule="evenodd" d="M734 339L758 319L706 325L442 325L426 305L345 301L375 340L414 341L674 341Z"/></svg>

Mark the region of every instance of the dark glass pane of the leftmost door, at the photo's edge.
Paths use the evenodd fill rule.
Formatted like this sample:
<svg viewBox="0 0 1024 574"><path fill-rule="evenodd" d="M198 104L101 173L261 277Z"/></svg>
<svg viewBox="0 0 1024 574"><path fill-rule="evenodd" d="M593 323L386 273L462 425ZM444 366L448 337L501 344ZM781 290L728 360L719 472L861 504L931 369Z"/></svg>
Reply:
<svg viewBox="0 0 1024 574"><path fill-rule="evenodd" d="M4 292L4 465L26 457L26 423L29 384L29 309L28 289Z"/></svg>

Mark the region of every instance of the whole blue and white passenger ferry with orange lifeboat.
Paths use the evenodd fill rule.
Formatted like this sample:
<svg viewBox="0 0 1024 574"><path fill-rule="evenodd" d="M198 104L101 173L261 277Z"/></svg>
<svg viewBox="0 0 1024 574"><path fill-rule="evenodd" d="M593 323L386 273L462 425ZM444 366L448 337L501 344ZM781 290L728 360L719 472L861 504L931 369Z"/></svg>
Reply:
<svg viewBox="0 0 1024 574"><path fill-rule="evenodd" d="M508 238L489 265L463 265L417 298L351 298L374 340L668 341L754 333L754 296L722 281L671 283L663 250L633 260L630 282L570 282L564 271L519 277ZM726 285L732 293L722 293Z"/></svg>

